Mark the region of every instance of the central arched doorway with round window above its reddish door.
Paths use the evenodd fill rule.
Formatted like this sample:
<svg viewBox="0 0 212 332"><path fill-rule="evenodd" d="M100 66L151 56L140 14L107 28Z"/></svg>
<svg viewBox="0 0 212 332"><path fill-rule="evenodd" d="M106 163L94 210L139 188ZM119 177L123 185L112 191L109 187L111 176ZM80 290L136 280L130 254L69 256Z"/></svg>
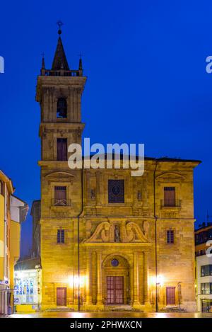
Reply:
<svg viewBox="0 0 212 332"><path fill-rule="evenodd" d="M105 258L102 286L106 305L130 304L129 263L126 258L119 255Z"/></svg>

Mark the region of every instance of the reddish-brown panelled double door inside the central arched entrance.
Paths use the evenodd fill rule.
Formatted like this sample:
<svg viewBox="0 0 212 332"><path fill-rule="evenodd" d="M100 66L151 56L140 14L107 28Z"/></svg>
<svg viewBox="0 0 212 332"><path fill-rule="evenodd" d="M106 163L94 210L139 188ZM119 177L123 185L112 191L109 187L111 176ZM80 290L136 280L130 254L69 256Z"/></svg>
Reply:
<svg viewBox="0 0 212 332"><path fill-rule="evenodd" d="M107 304L124 304L124 277L107 277Z"/></svg>

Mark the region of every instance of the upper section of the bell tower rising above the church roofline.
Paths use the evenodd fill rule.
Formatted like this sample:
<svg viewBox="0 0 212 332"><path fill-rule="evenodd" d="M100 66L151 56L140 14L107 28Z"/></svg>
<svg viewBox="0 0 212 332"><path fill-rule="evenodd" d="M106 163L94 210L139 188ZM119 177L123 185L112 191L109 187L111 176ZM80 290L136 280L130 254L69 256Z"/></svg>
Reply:
<svg viewBox="0 0 212 332"><path fill-rule="evenodd" d="M42 68L37 78L36 101L40 103L40 138L42 161L65 161L67 147L81 144L84 124L81 122L81 96L86 76L83 76L82 59L78 69L69 68L59 29L57 48L52 68ZM62 151L59 151L62 149Z"/></svg>

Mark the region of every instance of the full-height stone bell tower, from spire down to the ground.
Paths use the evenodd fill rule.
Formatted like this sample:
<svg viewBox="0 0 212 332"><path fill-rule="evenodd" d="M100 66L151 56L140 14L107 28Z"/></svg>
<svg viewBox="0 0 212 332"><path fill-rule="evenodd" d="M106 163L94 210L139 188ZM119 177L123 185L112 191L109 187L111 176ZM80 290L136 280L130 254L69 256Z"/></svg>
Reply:
<svg viewBox="0 0 212 332"><path fill-rule="evenodd" d="M36 101L40 103L42 309L77 307L77 229L82 210L81 169L68 166L69 144L81 144L81 96L86 84L82 59L71 69L61 41L61 29L51 69L37 77ZM56 295L55 295L56 294ZM55 297L56 296L56 297ZM57 298L57 299L56 299ZM62 301L62 302L61 302Z"/></svg>

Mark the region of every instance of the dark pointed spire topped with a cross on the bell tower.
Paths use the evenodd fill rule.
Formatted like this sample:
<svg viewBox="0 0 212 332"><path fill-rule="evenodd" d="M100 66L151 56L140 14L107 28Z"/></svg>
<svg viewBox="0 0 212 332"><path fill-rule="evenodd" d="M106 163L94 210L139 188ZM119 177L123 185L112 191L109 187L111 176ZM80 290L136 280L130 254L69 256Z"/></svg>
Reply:
<svg viewBox="0 0 212 332"><path fill-rule="evenodd" d="M59 38L58 38L58 42L57 42L57 48L54 54L54 59L52 62L52 70L70 70L69 69L69 64L67 62L66 59L66 54L64 51L64 46L61 42L61 25L63 25L63 23L61 21L57 22L57 25L59 26L59 30L58 30L58 34L59 34Z"/></svg>

